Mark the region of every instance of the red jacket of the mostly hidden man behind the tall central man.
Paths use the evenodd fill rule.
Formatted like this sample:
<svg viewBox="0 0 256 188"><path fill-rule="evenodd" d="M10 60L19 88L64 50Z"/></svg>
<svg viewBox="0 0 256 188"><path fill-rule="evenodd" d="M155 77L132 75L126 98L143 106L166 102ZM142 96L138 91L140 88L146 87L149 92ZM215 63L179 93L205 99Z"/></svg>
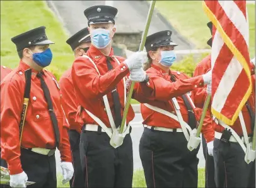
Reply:
<svg viewBox="0 0 256 188"><path fill-rule="evenodd" d="M62 96L62 107L64 109L69 130L76 130L81 133L81 124L76 123L76 113L78 111L78 101L74 94L74 86L71 77L71 69L64 72L59 80Z"/></svg>

